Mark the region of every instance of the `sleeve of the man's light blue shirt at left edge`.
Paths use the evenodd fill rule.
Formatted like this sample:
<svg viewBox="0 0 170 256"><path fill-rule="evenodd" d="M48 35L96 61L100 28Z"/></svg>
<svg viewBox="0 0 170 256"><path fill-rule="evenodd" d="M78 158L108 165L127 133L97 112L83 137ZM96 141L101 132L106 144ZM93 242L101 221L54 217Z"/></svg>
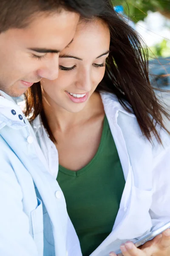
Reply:
<svg viewBox="0 0 170 256"><path fill-rule="evenodd" d="M22 200L23 193L14 170L0 154L0 255L38 256Z"/></svg>

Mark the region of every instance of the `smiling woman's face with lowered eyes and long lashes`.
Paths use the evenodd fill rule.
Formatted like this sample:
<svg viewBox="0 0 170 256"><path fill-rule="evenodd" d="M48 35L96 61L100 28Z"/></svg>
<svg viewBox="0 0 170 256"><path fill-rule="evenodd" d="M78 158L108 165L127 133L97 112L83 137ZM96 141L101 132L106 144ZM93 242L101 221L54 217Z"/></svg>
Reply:
<svg viewBox="0 0 170 256"><path fill-rule="evenodd" d="M41 81L48 103L71 113L81 111L103 79L109 46L110 32L104 23L79 23L74 41L60 53L58 78Z"/></svg>

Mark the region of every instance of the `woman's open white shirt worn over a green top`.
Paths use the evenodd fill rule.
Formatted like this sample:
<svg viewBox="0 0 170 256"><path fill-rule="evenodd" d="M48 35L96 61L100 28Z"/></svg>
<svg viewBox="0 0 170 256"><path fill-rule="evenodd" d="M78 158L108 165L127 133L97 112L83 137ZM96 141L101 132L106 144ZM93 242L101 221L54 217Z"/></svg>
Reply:
<svg viewBox="0 0 170 256"><path fill-rule="evenodd" d="M122 242L133 241L152 227L170 221L170 136L161 130L164 147L154 137L151 144L142 135L136 116L127 113L116 96L101 93L101 97L126 183L113 230L91 256L108 256ZM50 172L56 178L58 152L39 116L33 128Z"/></svg>

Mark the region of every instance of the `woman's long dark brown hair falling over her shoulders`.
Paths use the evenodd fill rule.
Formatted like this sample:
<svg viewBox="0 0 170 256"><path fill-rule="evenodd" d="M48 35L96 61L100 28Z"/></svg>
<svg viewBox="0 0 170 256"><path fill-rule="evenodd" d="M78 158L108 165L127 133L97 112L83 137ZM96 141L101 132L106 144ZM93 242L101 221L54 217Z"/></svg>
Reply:
<svg viewBox="0 0 170 256"><path fill-rule="evenodd" d="M96 90L114 93L125 110L136 115L144 136L152 141L153 134L161 143L157 127L167 131L163 116L170 119L170 114L159 103L150 85L147 47L139 35L113 10L110 0L105 0L105 3L105 10L96 18L104 21L110 29L110 54L106 60L105 76ZM40 83L27 90L25 99L26 116L31 114L30 121L33 121L40 114L42 124L51 140L55 141L43 110Z"/></svg>

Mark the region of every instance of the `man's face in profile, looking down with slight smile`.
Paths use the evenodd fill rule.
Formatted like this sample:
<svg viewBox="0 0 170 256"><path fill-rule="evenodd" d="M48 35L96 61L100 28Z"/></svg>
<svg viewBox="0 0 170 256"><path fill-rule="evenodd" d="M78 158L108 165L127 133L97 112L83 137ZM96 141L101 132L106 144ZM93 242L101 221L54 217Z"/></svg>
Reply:
<svg viewBox="0 0 170 256"><path fill-rule="evenodd" d="M79 15L38 15L24 29L0 34L0 90L17 97L41 78L58 77L59 52L73 39Z"/></svg>

